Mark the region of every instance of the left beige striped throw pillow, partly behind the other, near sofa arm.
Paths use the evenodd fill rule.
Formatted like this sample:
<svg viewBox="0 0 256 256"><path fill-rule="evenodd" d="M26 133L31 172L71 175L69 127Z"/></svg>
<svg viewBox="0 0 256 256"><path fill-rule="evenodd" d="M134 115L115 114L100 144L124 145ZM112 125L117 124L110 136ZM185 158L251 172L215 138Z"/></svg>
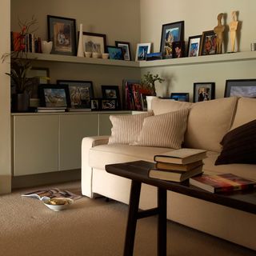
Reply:
<svg viewBox="0 0 256 256"><path fill-rule="evenodd" d="M112 122L108 144L129 144L138 140L144 118L153 115L153 111L142 114L110 115Z"/></svg>

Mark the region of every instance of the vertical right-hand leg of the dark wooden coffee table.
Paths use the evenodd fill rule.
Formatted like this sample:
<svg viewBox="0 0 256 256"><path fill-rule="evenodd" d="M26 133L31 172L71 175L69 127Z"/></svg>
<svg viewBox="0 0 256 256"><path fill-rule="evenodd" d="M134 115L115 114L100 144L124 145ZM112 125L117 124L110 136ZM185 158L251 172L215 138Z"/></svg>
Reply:
<svg viewBox="0 0 256 256"><path fill-rule="evenodd" d="M158 256L166 256L166 190L158 188Z"/></svg>

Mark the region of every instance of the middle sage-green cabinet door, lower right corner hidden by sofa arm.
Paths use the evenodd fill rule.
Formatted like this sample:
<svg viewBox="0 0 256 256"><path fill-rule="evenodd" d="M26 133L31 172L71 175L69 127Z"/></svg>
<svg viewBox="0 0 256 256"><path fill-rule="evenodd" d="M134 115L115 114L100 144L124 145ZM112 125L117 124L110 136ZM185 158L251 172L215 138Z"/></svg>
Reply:
<svg viewBox="0 0 256 256"><path fill-rule="evenodd" d="M60 170L81 168L82 138L98 135L98 114L60 117Z"/></svg>

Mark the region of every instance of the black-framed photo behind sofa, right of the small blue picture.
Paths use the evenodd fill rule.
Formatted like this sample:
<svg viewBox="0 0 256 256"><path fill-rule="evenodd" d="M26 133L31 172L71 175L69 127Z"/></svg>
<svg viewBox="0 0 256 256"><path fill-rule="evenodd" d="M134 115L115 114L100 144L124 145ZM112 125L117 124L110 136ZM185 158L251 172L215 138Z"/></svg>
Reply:
<svg viewBox="0 0 256 256"><path fill-rule="evenodd" d="M210 101L215 98L215 82L194 82L193 102Z"/></svg>

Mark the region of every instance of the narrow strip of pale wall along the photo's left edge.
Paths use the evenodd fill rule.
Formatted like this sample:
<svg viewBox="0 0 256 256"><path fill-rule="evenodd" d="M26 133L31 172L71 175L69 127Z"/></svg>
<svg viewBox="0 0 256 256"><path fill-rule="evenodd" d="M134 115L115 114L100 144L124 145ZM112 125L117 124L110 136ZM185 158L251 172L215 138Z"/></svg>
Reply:
<svg viewBox="0 0 256 256"><path fill-rule="evenodd" d="M0 56L10 52L10 0L1 0ZM0 194L11 190L10 150L10 61L0 62Z"/></svg>

